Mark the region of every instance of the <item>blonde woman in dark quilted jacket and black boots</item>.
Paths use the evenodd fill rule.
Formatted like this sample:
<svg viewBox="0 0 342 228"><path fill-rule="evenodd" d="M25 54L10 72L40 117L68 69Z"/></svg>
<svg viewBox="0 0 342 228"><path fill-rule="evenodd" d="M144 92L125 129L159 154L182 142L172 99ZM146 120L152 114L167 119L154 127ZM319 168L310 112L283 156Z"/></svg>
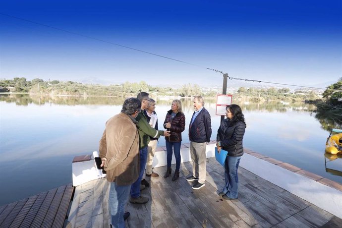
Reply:
<svg viewBox="0 0 342 228"><path fill-rule="evenodd" d="M185 115L182 111L182 103L180 100L173 100L171 104L171 110L165 116L164 127L170 130L170 136L165 137L166 149L167 149L167 164L168 170L164 177L168 177L171 174L171 160L172 160L172 147L174 152L174 158L176 159L176 169L172 180L176 180L179 177L180 168L180 145L182 143L182 132L185 129Z"/></svg>

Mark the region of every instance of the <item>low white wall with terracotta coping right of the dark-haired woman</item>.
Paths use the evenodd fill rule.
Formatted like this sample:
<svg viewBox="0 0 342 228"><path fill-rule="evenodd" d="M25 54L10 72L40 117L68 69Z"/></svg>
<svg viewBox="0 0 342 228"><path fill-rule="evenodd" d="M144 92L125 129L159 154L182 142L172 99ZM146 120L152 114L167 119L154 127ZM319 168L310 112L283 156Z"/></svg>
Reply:
<svg viewBox="0 0 342 228"><path fill-rule="evenodd" d="M307 177L307 171L287 163L272 164L245 153L240 166L278 185L290 193L342 218L342 185L319 175Z"/></svg>

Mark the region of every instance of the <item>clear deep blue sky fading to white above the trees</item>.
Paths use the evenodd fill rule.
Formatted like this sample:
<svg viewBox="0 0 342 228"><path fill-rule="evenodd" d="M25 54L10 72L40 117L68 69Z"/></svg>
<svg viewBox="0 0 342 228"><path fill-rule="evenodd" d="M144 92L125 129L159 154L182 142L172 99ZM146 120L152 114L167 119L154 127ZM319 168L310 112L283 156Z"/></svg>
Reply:
<svg viewBox="0 0 342 228"><path fill-rule="evenodd" d="M2 0L0 78L316 85L342 77L341 0Z"/></svg>

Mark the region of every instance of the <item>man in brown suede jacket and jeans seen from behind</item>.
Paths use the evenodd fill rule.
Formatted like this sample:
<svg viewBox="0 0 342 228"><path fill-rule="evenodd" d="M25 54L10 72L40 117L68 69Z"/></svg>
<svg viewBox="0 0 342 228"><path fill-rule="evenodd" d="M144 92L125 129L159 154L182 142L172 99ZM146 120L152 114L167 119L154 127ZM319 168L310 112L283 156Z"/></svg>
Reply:
<svg viewBox="0 0 342 228"><path fill-rule="evenodd" d="M129 212L124 213L131 184L138 179L140 171L139 134L135 117L140 112L141 102L128 98L122 105L120 114L106 122L100 140L101 166L107 171L111 182L109 192L109 213L115 228L124 228Z"/></svg>

